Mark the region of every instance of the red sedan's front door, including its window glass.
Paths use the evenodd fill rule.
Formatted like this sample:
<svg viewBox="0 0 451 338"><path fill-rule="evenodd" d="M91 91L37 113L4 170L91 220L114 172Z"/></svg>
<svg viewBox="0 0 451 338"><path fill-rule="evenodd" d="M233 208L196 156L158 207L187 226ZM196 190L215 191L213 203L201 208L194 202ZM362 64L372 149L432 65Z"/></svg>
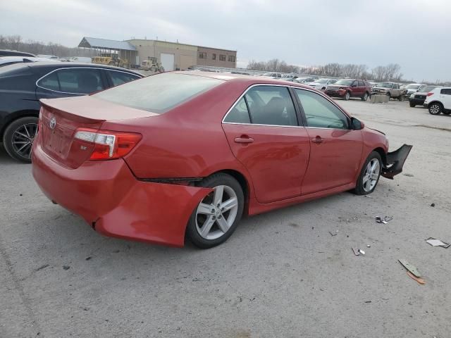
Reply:
<svg viewBox="0 0 451 338"><path fill-rule="evenodd" d="M295 93L311 142L302 194L352 183L362 157L362 131L350 130L347 115L320 94L305 89L295 89Z"/></svg>

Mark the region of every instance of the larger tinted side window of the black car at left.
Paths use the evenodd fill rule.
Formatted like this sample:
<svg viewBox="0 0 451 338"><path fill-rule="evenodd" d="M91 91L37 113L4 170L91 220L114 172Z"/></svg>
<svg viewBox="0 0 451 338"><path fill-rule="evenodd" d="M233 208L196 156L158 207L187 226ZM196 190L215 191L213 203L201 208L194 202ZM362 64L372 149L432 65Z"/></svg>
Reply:
<svg viewBox="0 0 451 338"><path fill-rule="evenodd" d="M45 89L74 94L90 94L104 89L99 70L87 68L56 70L37 84Z"/></svg>

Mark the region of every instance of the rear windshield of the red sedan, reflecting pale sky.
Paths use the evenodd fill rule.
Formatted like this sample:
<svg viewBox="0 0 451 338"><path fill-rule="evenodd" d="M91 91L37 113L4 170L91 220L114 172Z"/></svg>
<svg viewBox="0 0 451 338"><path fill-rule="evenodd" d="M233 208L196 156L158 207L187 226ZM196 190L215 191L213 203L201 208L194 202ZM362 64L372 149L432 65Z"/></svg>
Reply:
<svg viewBox="0 0 451 338"><path fill-rule="evenodd" d="M164 73L121 84L92 96L161 114L221 83L223 80L209 77Z"/></svg>

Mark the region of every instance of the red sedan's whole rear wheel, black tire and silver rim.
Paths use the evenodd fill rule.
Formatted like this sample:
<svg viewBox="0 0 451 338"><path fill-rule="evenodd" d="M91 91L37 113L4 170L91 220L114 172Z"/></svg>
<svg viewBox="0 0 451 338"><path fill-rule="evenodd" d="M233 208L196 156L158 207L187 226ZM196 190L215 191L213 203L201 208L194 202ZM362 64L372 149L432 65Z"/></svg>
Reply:
<svg viewBox="0 0 451 338"><path fill-rule="evenodd" d="M245 196L240 183L230 175L206 177L198 187L214 189L194 208L186 234L192 244L209 249L226 242L240 222Z"/></svg>

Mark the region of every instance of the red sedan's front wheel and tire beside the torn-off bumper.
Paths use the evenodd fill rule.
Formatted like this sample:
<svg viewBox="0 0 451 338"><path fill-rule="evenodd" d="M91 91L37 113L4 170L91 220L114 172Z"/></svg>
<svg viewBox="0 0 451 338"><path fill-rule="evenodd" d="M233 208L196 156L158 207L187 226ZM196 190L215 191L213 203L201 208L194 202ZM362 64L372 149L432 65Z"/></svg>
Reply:
<svg viewBox="0 0 451 338"><path fill-rule="evenodd" d="M377 151L372 151L364 163L362 171L357 178L354 194L367 195L376 189L381 177L382 159Z"/></svg>

